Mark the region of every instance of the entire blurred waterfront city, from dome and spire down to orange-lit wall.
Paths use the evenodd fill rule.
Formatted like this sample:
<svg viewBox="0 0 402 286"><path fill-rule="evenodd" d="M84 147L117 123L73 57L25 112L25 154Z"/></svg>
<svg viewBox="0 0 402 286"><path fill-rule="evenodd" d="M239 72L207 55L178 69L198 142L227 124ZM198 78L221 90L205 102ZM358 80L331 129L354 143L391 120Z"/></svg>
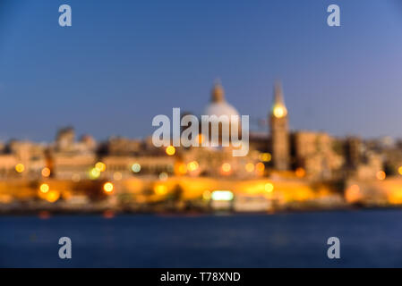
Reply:
<svg viewBox="0 0 402 286"><path fill-rule="evenodd" d="M197 120L194 128L174 126L181 136L172 139L170 135L159 139L156 130L157 136L154 132L146 139L111 136L96 141L85 134L76 140L75 130L65 127L53 142L0 144L0 212L66 208L270 212L402 204L402 140L289 130L278 82L266 121L269 132L249 134L248 129L239 129L239 114L227 102L220 83L214 84L204 112L216 132L201 128L199 133L200 124L192 115ZM175 108L173 114L174 122L187 116ZM234 121L216 121L217 114L235 116L230 117ZM166 115L160 116L170 122ZM158 121L152 124L158 126ZM237 137L247 134L242 156L234 154L238 146L225 144L229 127ZM196 132L189 136L192 129ZM161 134L170 134L170 125L167 130ZM184 135L194 144L175 144ZM209 143L216 144L209 147Z"/></svg>

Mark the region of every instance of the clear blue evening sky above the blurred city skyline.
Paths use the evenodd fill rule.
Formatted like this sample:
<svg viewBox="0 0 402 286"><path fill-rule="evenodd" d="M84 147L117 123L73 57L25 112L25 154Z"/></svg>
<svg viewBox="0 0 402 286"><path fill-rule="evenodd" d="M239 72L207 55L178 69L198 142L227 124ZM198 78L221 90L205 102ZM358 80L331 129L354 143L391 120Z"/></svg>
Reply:
<svg viewBox="0 0 402 286"><path fill-rule="evenodd" d="M172 107L201 114L216 78L252 122L281 80L294 130L402 137L398 2L0 0L0 139L64 125L145 137ZM73 27L59 27L60 4Z"/></svg>

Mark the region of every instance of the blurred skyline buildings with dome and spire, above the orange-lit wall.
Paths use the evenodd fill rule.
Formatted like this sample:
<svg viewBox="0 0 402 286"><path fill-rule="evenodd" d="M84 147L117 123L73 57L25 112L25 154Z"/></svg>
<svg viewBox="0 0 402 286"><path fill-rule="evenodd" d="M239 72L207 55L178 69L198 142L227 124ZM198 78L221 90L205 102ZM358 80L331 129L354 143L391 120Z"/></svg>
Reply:
<svg viewBox="0 0 402 286"><path fill-rule="evenodd" d="M238 112L227 103L222 86L215 84L203 114L230 116ZM1 144L0 178L34 180L45 176L80 181L186 175L330 181L350 177L382 179L387 174L398 174L402 164L401 142L289 130L289 114L278 84L268 119L266 133L250 133L250 151L244 157L232 156L230 147L154 147L150 138L112 137L97 142L83 135L77 140L73 128L67 127L58 130L55 141L49 144L20 140Z"/></svg>

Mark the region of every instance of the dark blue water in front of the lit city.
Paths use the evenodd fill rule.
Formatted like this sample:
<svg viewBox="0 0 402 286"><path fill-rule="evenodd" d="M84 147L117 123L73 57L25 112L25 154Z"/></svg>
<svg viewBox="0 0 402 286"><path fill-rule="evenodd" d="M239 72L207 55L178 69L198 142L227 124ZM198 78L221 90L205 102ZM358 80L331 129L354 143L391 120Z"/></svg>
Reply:
<svg viewBox="0 0 402 286"><path fill-rule="evenodd" d="M0 266L402 266L400 210L273 215L0 217ZM387 233L387 235L384 235ZM341 259L329 260L337 235ZM73 259L57 256L61 236Z"/></svg>

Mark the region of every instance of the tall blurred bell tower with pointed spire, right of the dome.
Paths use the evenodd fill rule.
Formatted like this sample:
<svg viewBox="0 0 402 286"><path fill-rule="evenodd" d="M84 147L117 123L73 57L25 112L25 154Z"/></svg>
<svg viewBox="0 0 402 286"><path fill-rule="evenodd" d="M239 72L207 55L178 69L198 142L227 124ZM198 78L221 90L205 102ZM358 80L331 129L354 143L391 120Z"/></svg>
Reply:
<svg viewBox="0 0 402 286"><path fill-rule="evenodd" d="M269 126L274 168L280 171L288 170L290 160L287 106L279 83L276 83L274 88L274 100L269 112Z"/></svg>

